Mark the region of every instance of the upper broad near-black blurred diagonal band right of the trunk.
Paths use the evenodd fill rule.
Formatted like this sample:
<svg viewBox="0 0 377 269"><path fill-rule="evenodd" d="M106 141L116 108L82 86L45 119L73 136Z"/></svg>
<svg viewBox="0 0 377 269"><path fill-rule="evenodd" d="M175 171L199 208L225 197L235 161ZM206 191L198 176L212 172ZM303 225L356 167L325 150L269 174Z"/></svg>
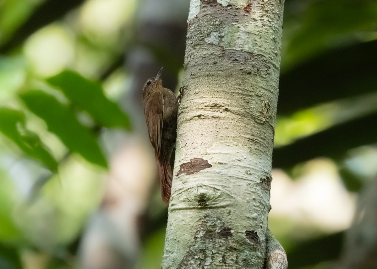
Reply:
<svg viewBox="0 0 377 269"><path fill-rule="evenodd" d="M375 92L376 47L374 40L331 50L280 75L277 113Z"/></svg>

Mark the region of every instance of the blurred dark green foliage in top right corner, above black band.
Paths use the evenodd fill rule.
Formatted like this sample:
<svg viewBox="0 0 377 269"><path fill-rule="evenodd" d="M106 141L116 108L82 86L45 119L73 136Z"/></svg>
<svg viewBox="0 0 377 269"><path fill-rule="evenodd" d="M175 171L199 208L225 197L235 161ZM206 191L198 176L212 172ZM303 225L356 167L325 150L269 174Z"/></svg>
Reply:
<svg viewBox="0 0 377 269"><path fill-rule="evenodd" d="M375 31L377 2L291 1L284 11L282 73L331 47L369 39Z"/></svg>

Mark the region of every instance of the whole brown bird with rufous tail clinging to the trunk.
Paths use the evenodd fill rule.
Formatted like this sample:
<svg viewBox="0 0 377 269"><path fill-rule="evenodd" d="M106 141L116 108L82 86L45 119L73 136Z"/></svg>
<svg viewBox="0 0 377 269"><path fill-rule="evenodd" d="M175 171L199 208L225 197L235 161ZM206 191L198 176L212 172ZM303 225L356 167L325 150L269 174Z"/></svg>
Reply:
<svg viewBox="0 0 377 269"><path fill-rule="evenodd" d="M162 68L143 86L143 107L150 142L155 148L162 200L169 203L172 187L170 156L177 136L178 102L174 93L162 86Z"/></svg>

